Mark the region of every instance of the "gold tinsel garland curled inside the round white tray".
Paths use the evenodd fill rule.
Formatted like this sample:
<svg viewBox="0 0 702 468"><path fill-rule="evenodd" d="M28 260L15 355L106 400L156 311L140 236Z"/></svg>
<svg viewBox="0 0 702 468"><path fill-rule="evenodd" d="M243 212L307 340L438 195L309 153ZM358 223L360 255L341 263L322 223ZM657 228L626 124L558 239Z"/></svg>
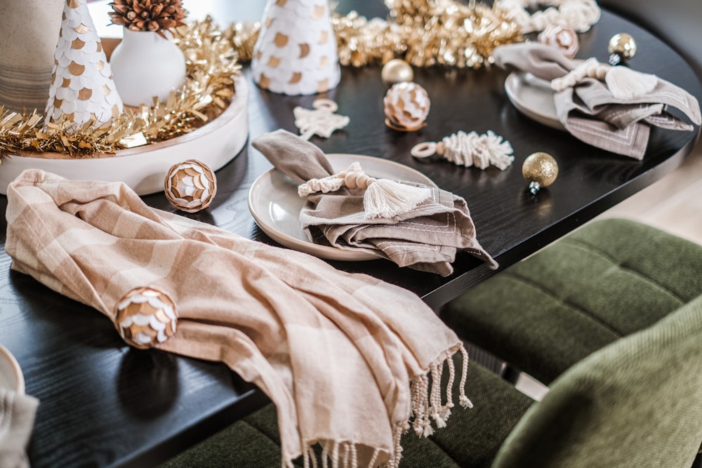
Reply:
<svg viewBox="0 0 702 468"><path fill-rule="evenodd" d="M18 114L0 105L0 158L32 154L46 158L103 156L117 149L176 138L219 116L234 95L237 52L211 18L179 27L173 39L185 54L187 78L167 102L125 109L110 123L88 121L76 128L59 119L44 125L36 110Z"/></svg>

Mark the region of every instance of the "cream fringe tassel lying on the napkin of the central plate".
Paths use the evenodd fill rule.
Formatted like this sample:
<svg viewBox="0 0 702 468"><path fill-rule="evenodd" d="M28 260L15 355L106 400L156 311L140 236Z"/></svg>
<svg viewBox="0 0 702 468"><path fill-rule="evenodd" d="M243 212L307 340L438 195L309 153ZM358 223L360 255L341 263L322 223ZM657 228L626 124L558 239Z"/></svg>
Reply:
<svg viewBox="0 0 702 468"><path fill-rule="evenodd" d="M390 179L378 179L368 186L363 196L366 218L392 218L407 213L432 196L427 187L402 184Z"/></svg>

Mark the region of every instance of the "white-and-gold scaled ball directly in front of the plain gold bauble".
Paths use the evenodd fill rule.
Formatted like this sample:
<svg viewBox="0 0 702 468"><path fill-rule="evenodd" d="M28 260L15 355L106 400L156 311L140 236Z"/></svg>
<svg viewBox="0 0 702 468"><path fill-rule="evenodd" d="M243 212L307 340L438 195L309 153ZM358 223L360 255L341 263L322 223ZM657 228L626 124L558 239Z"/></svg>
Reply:
<svg viewBox="0 0 702 468"><path fill-rule="evenodd" d="M415 131L426 125L430 100L427 91L414 82L395 83L383 98L385 125L399 131Z"/></svg>

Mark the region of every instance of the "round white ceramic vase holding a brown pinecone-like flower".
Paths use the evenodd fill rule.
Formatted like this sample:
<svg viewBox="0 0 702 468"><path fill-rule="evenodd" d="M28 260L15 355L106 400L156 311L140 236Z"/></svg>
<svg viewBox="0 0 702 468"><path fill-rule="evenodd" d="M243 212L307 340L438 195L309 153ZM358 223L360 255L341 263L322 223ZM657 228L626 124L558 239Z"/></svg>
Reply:
<svg viewBox="0 0 702 468"><path fill-rule="evenodd" d="M155 32L126 28L123 31L124 36L110 58L114 84L122 102L138 107L152 105L154 96L165 101L185 81L183 52L173 41Z"/></svg>

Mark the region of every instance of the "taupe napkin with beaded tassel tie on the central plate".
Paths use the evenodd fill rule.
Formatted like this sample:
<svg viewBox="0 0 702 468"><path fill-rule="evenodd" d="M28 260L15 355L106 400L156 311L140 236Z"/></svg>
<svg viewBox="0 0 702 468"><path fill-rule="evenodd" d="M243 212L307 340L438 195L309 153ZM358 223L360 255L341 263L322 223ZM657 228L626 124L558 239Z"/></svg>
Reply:
<svg viewBox="0 0 702 468"><path fill-rule="evenodd" d="M372 253L400 267L442 276L453 272L458 250L491 269L498 267L477 241L468 205L460 196L375 180L359 166L336 173L321 149L284 130L260 135L251 144L300 184L298 193L307 199L300 224L310 241Z"/></svg>

